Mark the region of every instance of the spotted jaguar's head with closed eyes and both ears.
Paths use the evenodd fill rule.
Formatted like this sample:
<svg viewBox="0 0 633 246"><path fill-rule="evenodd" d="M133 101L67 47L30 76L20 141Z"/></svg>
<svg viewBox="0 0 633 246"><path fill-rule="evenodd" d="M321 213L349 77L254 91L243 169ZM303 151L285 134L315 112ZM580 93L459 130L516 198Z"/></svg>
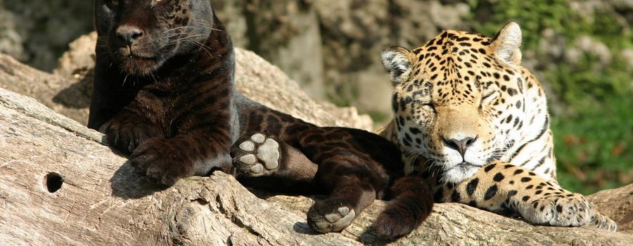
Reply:
<svg viewBox="0 0 633 246"><path fill-rule="evenodd" d="M397 143L410 167L437 167L458 183L520 141L529 73L521 39L511 22L493 39L447 30L413 51L385 48Z"/></svg>

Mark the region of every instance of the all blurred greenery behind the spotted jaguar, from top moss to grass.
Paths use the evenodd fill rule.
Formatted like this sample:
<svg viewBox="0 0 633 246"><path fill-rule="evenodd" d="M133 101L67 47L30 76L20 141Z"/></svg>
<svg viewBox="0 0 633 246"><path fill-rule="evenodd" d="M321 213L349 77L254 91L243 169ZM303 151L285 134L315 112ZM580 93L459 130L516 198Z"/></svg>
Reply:
<svg viewBox="0 0 633 246"><path fill-rule="evenodd" d="M608 8L577 13L569 0L468 3L475 32L492 35L514 20L523 30L524 53L537 54L533 72L551 89L550 103L564 109L552 115L561 184L588 194L633 182L633 68L620 55L633 46L629 23ZM556 40L543 37L544 30ZM580 37L606 45L610 59L576 47ZM552 44L560 40L562 44ZM570 61L542 50L543 44L580 53Z"/></svg>

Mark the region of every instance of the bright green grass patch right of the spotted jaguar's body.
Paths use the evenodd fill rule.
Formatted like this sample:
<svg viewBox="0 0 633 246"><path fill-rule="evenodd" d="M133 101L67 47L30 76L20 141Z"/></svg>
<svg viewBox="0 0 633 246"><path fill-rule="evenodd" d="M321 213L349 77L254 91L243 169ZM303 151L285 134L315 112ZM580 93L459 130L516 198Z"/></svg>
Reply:
<svg viewBox="0 0 633 246"><path fill-rule="evenodd" d="M551 127L561 185L585 194L633 182L633 98L612 97Z"/></svg>

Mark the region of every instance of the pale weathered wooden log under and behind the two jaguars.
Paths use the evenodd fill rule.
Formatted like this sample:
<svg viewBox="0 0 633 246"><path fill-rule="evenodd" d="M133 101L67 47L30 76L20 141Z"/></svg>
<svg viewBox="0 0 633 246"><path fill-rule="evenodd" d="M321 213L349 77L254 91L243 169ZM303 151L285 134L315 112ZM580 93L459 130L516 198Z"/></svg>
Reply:
<svg viewBox="0 0 633 246"><path fill-rule="evenodd" d="M250 51L238 50L237 58L236 80L246 95L321 125L362 122L354 110L310 101ZM371 233L385 206L381 201L342 233L315 235L305 212L318 197L247 190L222 173L158 190L103 145L103 135L7 90L81 116L51 98L80 87L73 86L82 83L82 75L58 74L0 56L0 245L633 245L633 235L625 234L633 225L633 185L590 197L618 221L619 233L532 226L446 203L435 205L420 228L395 242Z"/></svg>

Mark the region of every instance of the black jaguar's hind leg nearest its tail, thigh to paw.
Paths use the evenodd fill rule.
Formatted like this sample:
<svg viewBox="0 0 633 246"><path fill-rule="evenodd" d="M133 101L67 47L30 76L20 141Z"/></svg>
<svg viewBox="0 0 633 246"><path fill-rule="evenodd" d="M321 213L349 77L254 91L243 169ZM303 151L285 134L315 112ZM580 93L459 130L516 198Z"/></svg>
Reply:
<svg viewBox="0 0 633 246"><path fill-rule="evenodd" d="M399 155L366 131L314 128L302 132L300 150L319 164L314 186L328 194L312 205L308 224L320 233L341 231L373 200L381 198L396 173ZM394 155L391 155L394 153Z"/></svg>

